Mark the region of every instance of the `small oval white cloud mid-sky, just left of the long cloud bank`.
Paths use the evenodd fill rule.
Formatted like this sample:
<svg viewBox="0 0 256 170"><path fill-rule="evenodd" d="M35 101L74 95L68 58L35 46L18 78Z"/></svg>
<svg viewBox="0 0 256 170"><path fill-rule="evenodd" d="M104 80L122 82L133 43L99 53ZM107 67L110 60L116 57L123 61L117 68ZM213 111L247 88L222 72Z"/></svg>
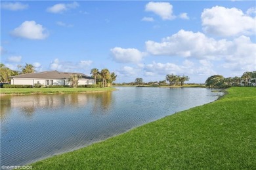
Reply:
<svg viewBox="0 0 256 170"><path fill-rule="evenodd" d="M115 47L114 49L110 49L110 51L114 60L119 63L138 63L146 55L146 53L140 52L137 49L122 49L120 47Z"/></svg>

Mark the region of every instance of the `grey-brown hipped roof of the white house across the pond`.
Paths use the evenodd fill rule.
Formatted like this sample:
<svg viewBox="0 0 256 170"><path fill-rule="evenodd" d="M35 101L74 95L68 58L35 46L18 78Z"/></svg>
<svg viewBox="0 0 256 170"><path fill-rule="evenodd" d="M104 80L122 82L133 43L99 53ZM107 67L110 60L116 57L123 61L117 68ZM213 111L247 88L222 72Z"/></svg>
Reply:
<svg viewBox="0 0 256 170"><path fill-rule="evenodd" d="M13 78L13 79L33 79L33 78L34 79L68 79L68 78L70 78L70 75L73 75L73 74L80 74L81 79L93 79L93 77L90 77L88 75L81 74L81 73L58 72L56 70L32 73L32 74L15 75L15 76L11 76L9 78Z"/></svg>

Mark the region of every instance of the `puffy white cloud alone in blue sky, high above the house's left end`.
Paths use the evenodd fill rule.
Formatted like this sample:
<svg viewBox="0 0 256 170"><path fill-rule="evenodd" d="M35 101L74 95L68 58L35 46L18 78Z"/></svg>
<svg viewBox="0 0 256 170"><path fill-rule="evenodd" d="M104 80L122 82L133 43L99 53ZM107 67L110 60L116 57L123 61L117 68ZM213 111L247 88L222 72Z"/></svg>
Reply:
<svg viewBox="0 0 256 170"><path fill-rule="evenodd" d="M23 22L11 32L11 35L26 39L45 39L49 33L46 28L32 20Z"/></svg>

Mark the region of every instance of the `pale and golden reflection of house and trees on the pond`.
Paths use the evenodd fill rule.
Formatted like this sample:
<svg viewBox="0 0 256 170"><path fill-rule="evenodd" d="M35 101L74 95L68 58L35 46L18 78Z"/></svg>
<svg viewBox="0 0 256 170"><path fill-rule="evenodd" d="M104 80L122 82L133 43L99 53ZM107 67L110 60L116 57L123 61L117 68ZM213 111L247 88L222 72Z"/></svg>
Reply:
<svg viewBox="0 0 256 170"><path fill-rule="evenodd" d="M112 102L112 92L77 93L61 95L30 95L30 96L1 96L1 121L11 113L11 109L18 109L24 116L32 117L37 109L63 108L64 106L83 107L88 100L93 103L95 110L109 110ZM99 103L101 105L99 105ZM106 114L108 112L100 112Z"/></svg>

